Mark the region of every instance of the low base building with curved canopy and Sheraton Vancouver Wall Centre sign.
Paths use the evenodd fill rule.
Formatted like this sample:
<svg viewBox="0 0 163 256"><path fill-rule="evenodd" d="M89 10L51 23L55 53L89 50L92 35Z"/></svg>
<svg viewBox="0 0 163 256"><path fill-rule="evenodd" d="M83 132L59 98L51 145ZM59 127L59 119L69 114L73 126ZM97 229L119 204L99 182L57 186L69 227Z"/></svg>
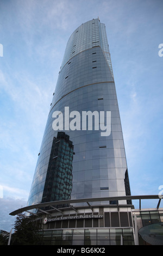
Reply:
<svg viewBox="0 0 163 256"><path fill-rule="evenodd" d="M101 198L103 205L89 200L63 200L27 206L11 212L16 215L28 212L37 215L41 224L41 245L163 245L163 208L141 209L141 199L158 196L130 196L140 200L139 209L134 205L120 204L124 197ZM109 198L107 198L109 199ZM108 204L117 200L117 204ZM93 200L93 199L91 199ZM106 203L106 204L105 204ZM65 204L67 207L65 207ZM83 204L83 205L81 205ZM75 206L74 206L75 205ZM30 210L33 210L30 211Z"/></svg>

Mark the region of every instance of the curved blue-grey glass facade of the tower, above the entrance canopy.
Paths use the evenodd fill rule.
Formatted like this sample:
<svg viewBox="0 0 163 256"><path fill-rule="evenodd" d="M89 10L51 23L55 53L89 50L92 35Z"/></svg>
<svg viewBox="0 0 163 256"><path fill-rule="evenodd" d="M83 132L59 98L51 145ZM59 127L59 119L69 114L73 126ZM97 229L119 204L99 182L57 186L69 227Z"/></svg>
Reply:
<svg viewBox="0 0 163 256"><path fill-rule="evenodd" d="M105 25L93 19L67 42L28 205L126 195L130 187L108 40Z"/></svg>

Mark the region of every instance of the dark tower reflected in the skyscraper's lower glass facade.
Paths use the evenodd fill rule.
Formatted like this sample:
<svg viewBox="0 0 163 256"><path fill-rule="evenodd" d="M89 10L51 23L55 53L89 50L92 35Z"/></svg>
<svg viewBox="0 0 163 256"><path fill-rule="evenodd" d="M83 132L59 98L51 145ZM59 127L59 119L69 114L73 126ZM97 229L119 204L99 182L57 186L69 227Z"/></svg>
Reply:
<svg viewBox="0 0 163 256"><path fill-rule="evenodd" d="M42 202L70 199L72 191L73 144L65 132L54 137Z"/></svg>

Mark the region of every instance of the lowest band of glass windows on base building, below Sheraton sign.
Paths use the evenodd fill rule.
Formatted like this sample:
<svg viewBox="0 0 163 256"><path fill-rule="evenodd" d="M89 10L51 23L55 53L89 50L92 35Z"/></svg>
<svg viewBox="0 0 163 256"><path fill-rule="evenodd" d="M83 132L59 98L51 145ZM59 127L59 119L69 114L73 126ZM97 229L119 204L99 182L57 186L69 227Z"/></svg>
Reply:
<svg viewBox="0 0 163 256"><path fill-rule="evenodd" d="M132 228L42 231L42 245L134 245Z"/></svg>

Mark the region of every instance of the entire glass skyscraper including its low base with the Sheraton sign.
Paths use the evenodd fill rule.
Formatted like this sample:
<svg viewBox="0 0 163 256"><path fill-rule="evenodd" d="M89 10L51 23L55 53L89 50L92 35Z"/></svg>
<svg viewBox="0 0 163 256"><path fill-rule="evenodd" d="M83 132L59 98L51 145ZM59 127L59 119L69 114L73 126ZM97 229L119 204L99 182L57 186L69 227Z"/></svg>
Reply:
<svg viewBox="0 0 163 256"><path fill-rule="evenodd" d="M93 19L67 42L28 205L10 215L36 214L40 245L138 245L138 230L155 245L148 227L162 221L163 209L160 198L157 208L141 209L146 198L158 195L130 196L105 25Z"/></svg>

